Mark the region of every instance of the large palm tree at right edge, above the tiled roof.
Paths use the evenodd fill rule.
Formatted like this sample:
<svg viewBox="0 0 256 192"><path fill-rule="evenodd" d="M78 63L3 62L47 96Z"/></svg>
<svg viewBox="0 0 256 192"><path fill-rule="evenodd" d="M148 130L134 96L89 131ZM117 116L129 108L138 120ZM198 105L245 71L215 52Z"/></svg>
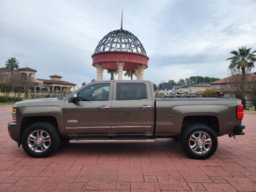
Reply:
<svg viewBox="0 0 256 192"><path fill-rule="evenodd" d="M229 69L234 73L234 71L242 72L242 81L245 81L246 72L250 73L251 69L254 67L254 61L256 61L256 51L250 53L252 48L247 49L246 46L238 47L238 51L231 51L233 57L228 58L230 60Z"/></svg>

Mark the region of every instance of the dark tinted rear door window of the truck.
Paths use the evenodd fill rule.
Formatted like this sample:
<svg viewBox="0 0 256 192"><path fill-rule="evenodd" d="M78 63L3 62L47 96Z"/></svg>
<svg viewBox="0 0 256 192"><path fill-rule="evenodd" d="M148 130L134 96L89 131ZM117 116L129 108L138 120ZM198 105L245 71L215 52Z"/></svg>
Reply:
<svg viewBox="0 0 256 192"><path fill-rule="evenodd" d="M147 99L147 89L145 83L117 83L117 101L142 99Z"/></svg>

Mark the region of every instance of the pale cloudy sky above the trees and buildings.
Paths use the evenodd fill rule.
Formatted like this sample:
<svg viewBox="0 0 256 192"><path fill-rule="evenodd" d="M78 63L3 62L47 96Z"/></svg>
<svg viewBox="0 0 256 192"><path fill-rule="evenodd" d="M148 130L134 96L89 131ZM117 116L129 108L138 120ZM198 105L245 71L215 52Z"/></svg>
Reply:
<svg viewBox="0 0 256 192"><path fill-rule="evenodd" d="M0 67L15 57L20 67L36 69L36 78L57 74L89 83L96 78L91 55L103 36L120 28L122 9L123 29L140 39L149 57L144 78L156 84L227 77L230 51L256 50L253 0L0 0Z"/></svg>

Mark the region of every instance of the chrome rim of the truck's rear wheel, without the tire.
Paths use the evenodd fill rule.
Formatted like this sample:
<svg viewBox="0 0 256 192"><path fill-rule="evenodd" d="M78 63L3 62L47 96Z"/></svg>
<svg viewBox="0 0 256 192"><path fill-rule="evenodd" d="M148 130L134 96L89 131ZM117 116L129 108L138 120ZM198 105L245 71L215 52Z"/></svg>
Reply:
<svg viewBox="0 0 256 192"><path fill-rule="evenodd" d="M204 154L211 149L212 139L208 133L197 131L190 136L189 147L196 154Z"/></svg>

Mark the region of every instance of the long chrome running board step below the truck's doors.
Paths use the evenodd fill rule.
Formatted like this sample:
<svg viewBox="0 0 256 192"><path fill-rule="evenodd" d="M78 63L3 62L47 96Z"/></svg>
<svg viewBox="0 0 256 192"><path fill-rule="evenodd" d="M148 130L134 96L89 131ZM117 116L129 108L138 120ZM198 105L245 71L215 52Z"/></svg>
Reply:
<svg viewBox="0 0 256 192"><path fill-rule="evenodd" d="M72 139L69 143L153 143L155 139Z"/></svg>

